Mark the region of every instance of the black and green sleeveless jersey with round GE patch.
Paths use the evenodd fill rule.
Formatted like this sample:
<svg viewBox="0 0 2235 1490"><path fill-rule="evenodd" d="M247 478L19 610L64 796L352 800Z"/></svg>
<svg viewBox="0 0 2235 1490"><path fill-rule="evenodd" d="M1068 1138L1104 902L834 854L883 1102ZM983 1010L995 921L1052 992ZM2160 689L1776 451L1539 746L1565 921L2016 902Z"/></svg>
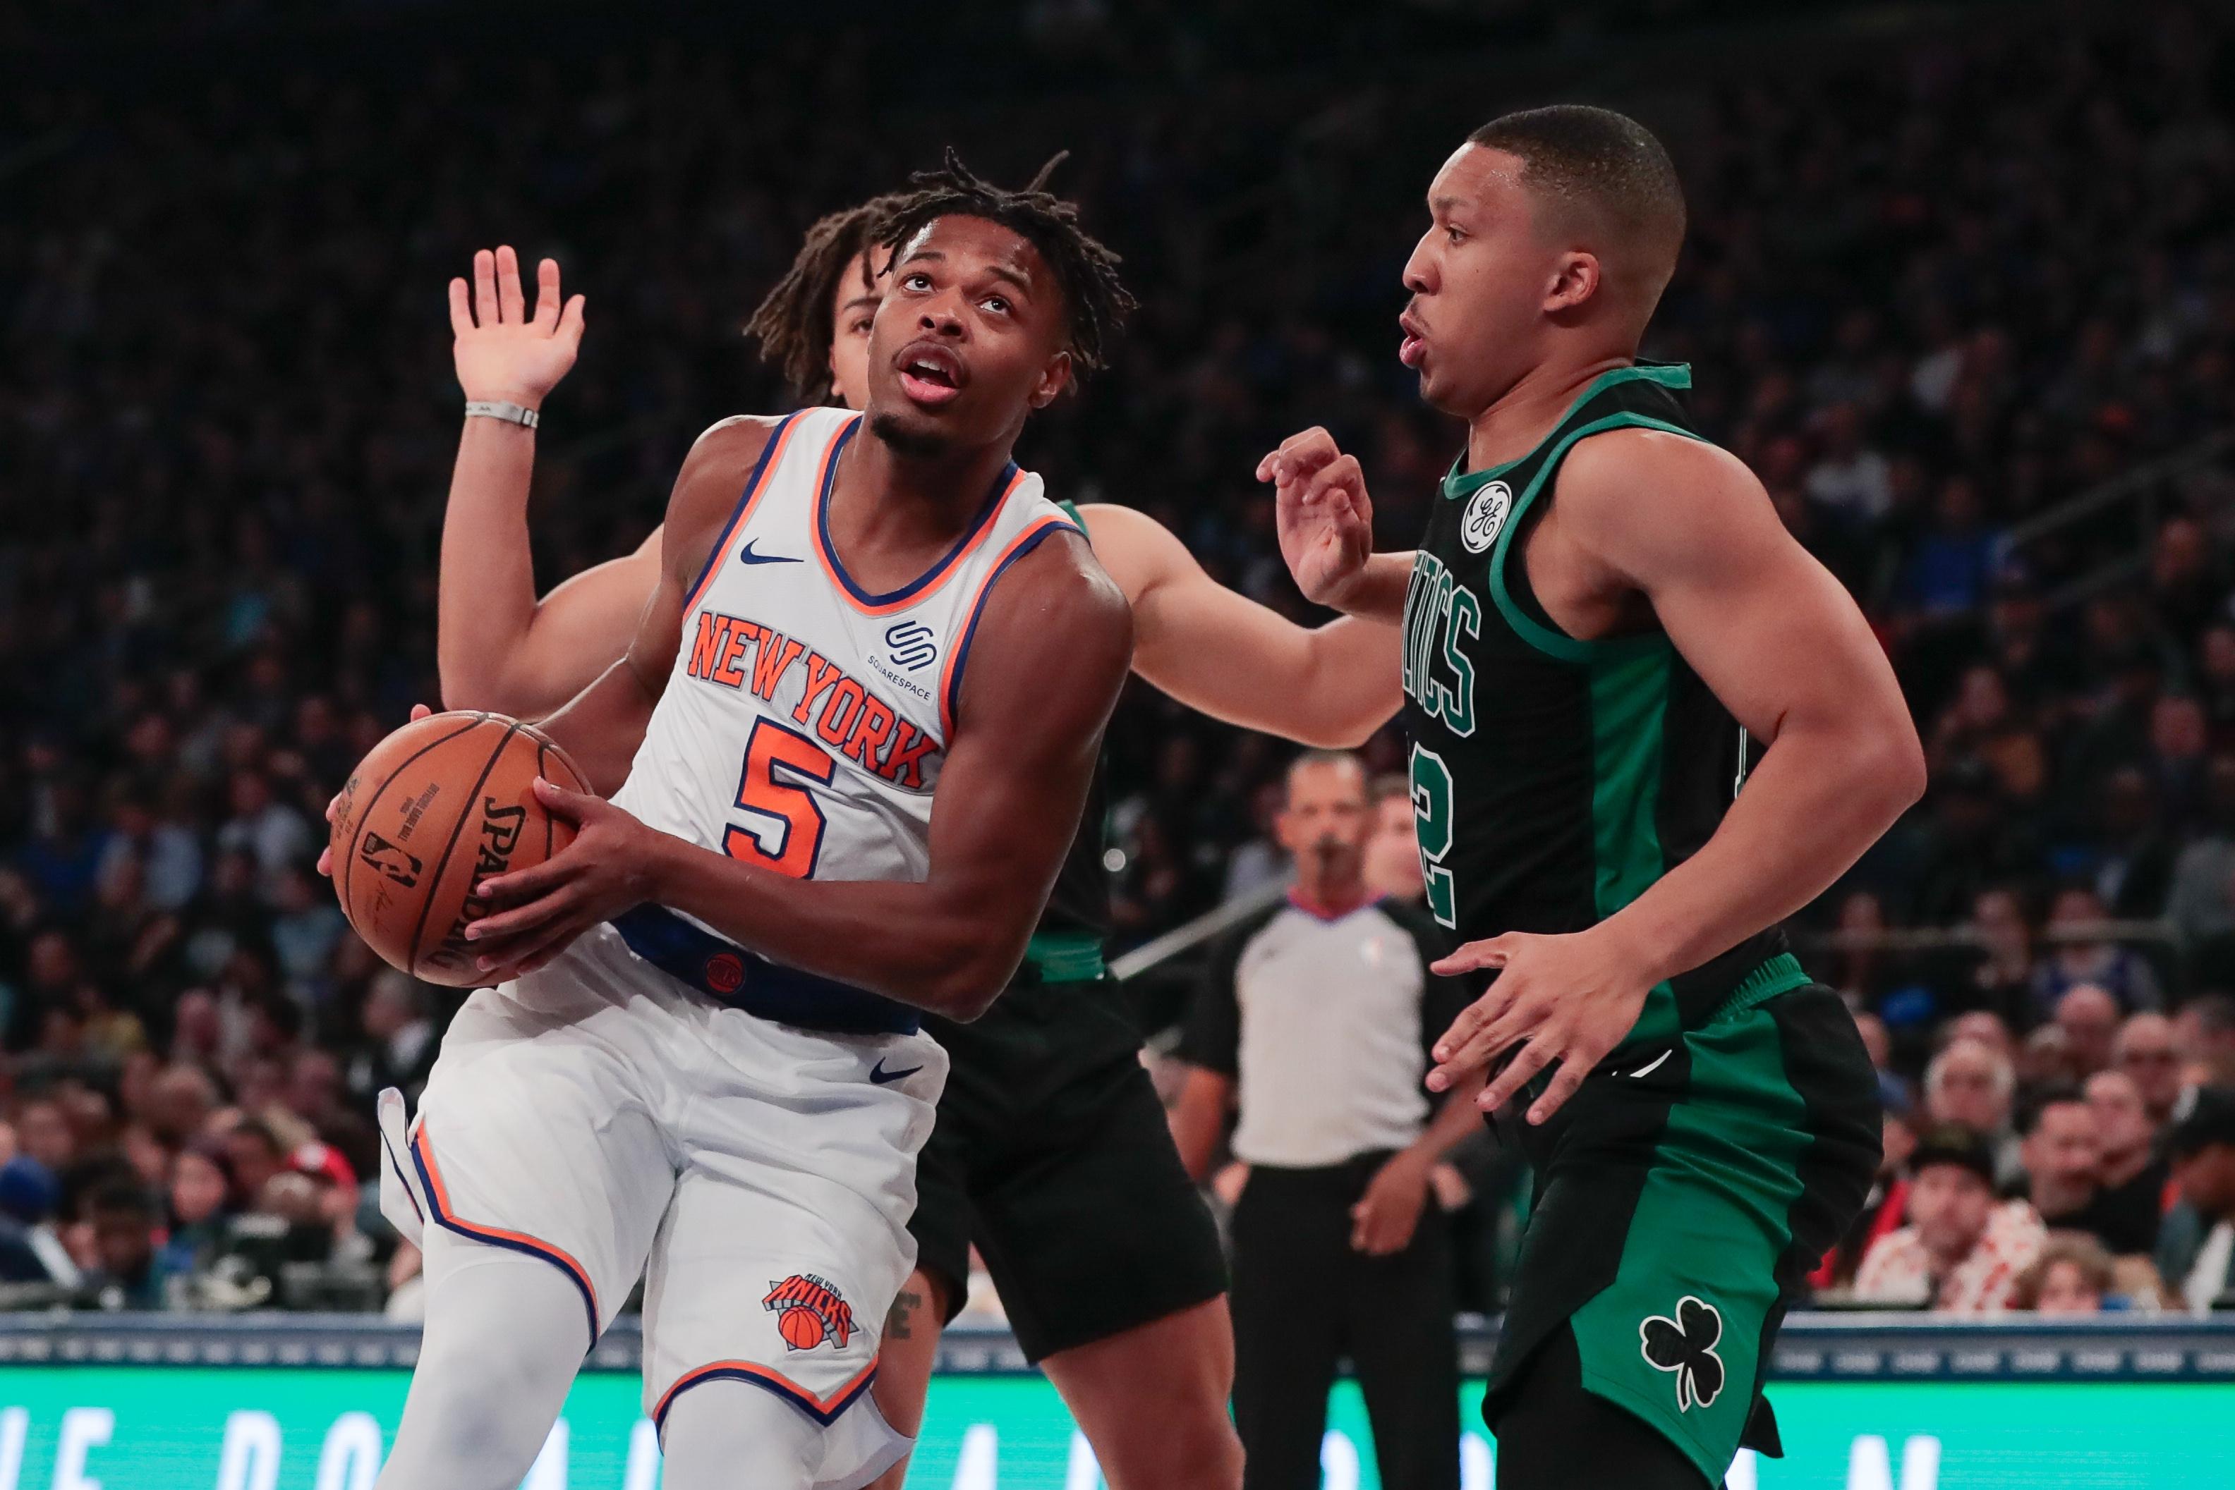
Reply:
<svg viewBox="0 0 2235 1490"><path fill-rule="evenodd" d="M1404 614L1406 724L1428 907L1462 940L1605 920L1696 853L1746 780L1743 730L1665 632L1569 637L1522 563L1576 442L1699 438L1687 386L1683 366L1616 369L1520 460L1455 465L1428 516ZM1636 500L1654 498L1640 483ZM1784 949L1772 927L1663 983L1632 1039L1696 1028L1757 972L1801 983Z"/></svg>

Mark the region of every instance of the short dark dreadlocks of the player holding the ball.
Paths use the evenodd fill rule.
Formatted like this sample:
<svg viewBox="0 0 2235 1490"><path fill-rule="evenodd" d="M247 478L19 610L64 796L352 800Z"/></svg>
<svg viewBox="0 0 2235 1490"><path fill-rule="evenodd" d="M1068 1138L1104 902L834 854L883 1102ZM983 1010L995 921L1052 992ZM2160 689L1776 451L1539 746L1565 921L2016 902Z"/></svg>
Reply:
<svg viewBox="0 0 2235 1490"><path fill-rule="evenodd" d="M977 176L950 145L939 170L910 176L916 190L885 214L876 246L898 252L939 217L1001 223L1037 248L1055 273L1055 286L1064 295L1064 351L1071 353L1073 373L1086 375L1109 364L1111 337L1135 302L1118 281L1118 255L1080 226L1077 203L1048 192L1048 176L1068 154L1059 152L1024 190L1010 192Z"/></svg>

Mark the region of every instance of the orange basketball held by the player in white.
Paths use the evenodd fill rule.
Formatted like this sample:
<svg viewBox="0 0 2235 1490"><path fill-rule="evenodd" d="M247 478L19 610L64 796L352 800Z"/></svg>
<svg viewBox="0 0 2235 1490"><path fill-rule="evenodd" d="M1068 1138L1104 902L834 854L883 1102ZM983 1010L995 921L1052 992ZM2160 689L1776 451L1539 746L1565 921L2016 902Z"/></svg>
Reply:
<svg viewBox="0 0 2235 1490"><path fill-rule="evenodd" d="M503 715L427 715L373 746L333 802L333 891L358 936L416 978L483 983L465 940L489 911L474 885L574 838L536 802L539 775L590 791L565 751Z"/></svg>

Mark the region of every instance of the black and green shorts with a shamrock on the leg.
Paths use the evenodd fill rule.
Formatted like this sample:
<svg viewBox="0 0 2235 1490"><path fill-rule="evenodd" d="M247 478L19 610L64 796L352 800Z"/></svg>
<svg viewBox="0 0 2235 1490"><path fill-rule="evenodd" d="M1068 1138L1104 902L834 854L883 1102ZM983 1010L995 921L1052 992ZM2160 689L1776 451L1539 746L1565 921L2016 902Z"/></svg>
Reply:
<svg viewBox="0 0 2235 1490"><path fill-rule="evenodd" d="M1708 1483L1739 1448L1779 1454L1763 1363L1880 1159L1877 1077L1839 996L1737 996L1674 1041L1632 1041L1520 1137L1535 1206L1484 1421L1564 1320L1582 1387Z"/></svg>

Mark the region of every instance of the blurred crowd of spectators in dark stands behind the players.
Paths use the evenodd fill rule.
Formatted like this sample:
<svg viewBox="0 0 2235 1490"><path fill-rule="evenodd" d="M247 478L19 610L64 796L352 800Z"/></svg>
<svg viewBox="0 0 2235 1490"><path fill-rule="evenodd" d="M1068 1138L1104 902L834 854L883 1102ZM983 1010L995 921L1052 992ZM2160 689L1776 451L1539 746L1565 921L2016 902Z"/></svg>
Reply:
<svg viewBox="0 0 2235 1490"><path fill-rule="evenodd" d="M1249 474L1325 422L1383 541L1417 534L1457 447L1392 355L1419 190L1533 98L1439 67L1426 9L1263 69L1187 7L1028 9L970 63L999 89L800 27L0 89L0 1284L313 1307L411 1269L362 1204L371 1095L425 1077L454 1001L311 860L346 768L436 697L443 284L476 246L590 295L545 583L641 538L697 429L780 407L740 322L807 221L948 141L1015 179L1073 150L1057 185L1142 299L1026 436L1050 489L1305 619ZM2197 1159L2235 1148L2197 1092L2235 1081L2235 27L2114 22L1705 69L1645 109L1692 197L1647 351L1864 601L1931 751L1927 802L1797 923L1893 1112L1822 1276L1860 1298L2179 1307L2226 1264ZM2036 523L2134 474L2152 505ZM1120 943L1283 873L1285 755L1129 693ZM1366 751L1399 757L1395 728Z"/></svg>

